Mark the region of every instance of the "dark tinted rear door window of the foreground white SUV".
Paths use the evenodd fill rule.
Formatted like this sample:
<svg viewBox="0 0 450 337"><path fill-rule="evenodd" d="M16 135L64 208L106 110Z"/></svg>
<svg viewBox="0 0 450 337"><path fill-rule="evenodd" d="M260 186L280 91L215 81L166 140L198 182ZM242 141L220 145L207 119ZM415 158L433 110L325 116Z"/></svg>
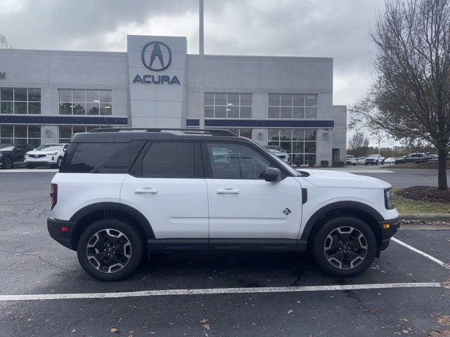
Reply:
<svg viewBox="0 0 450 337"><path fill-rule="evenodd" d="M151 178L195 178L203 172L195 163L198 158L198 143L155 142L144 155L141 176Z"/></svg>

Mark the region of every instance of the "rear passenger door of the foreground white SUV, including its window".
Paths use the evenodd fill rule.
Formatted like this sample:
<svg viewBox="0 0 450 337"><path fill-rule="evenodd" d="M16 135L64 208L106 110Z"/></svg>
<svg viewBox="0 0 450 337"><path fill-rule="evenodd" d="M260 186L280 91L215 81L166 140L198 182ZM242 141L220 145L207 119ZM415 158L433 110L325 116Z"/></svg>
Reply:
<svg viewBox="0 0 450 337"><path fill-rule="evenodd" d="M148 143L122 183L120 202L146 216L156 241L207 247L207 189L200 143Z"/></svg>

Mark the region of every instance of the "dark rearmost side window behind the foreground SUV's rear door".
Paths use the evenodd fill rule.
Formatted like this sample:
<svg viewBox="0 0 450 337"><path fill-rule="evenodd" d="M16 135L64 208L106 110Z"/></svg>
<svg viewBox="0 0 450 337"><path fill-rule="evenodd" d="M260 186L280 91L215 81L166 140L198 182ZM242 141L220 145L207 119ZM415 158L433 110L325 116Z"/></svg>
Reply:
<svg viewBox="0 0 450 337"><path fill-rule="evenodd" d="M145 143L71 143L60 172L127 173Z"/></svg>

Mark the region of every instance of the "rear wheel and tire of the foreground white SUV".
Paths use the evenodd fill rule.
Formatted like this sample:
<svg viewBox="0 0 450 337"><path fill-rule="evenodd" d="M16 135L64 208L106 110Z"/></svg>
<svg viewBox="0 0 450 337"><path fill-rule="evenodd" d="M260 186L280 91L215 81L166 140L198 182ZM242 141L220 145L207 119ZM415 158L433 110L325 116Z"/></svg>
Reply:
<svg viewBox="0 0 450 337"><path fill-rule="evenodd" d="M101 238L105 240L101 242ZM117 243L120 248L115 248ZM101 252L101 249L108 249L110 255L117 258L108 257L108 251ZM98 220L79 238L77 256L84 271L94 279L118 281L129 277L139 267L143 258L142 240L136 230L121 220ZM103 264L99 263L100 258Z"/></svg>

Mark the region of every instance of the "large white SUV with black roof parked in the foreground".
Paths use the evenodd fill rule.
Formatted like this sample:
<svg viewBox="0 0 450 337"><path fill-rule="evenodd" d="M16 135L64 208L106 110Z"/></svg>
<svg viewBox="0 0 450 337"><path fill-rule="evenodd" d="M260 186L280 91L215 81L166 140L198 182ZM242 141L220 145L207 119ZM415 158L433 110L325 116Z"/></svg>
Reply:
<svg viewBox="0 0 450 337"><path fill-rule="evenodd" d="M129 276L146 253L193 249L309 249L329 274L354 276L400 223L390 184L295 171L224 130L75 134L51 201L51 237L105 281Z"/></svg>

